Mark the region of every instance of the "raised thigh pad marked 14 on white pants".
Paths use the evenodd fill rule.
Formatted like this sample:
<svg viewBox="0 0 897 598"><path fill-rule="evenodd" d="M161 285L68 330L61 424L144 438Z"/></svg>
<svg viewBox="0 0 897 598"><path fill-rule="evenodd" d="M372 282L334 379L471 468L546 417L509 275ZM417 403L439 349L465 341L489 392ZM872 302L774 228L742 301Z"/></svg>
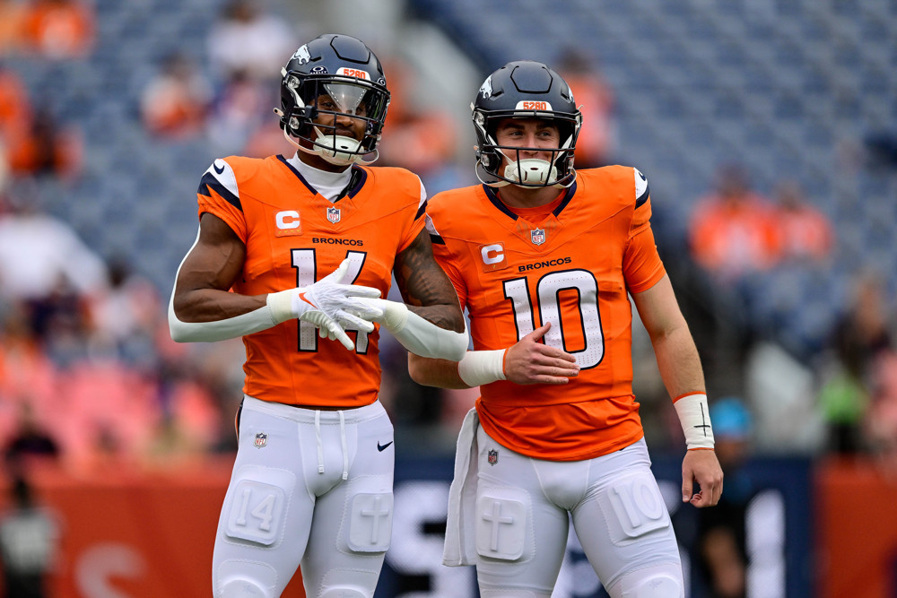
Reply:
<svg viewBox="0 0 897 598"><path fill-rule="evenodd" d="M240 468L224 507L224 533L265 547L279 543L295 485L296 476L287 470L256 465Z"/></svg>

